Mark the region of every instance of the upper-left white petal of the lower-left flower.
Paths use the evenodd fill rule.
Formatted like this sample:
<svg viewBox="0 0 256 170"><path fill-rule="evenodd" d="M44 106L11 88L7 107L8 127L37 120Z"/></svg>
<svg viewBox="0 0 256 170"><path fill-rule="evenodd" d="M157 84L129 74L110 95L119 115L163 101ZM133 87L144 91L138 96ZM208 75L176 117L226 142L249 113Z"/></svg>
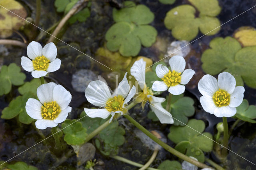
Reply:
<svg viewBox="0 0 256 170"><path fill-rule="evenodd" d="M57 84L51 82L37 88L36 94L42 104L53 101L53 89Z"/></svg>

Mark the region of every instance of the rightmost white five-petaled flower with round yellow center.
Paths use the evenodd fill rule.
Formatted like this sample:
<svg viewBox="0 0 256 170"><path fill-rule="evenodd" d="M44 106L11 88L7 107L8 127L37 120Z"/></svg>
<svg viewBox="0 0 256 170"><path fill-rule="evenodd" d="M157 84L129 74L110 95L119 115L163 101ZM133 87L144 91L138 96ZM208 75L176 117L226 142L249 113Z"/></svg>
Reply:
<svg viewBox="0 0 256 170"><path fill-rule="evenodd" d="M204 110L217 117L234 116L244 98L244 87L236 87L236 79L228 72L220 73L218 81L204 75L198 82L198 90L203 95L200 102Z"/></svg>

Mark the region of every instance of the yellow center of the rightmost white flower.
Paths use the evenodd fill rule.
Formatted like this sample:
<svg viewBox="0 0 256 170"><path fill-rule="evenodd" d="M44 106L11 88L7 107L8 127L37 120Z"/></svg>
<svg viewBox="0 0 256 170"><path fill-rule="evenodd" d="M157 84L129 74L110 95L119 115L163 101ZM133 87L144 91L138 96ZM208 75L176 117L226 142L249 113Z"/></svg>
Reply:
<svg viewBox="0 0 256 170"><path fill-rule="evenodd" d="M217 92L214 93L212 96L213 102L216 106L228 106L230 102L230 94L226 92L226 90L219 89Z"/></svg>

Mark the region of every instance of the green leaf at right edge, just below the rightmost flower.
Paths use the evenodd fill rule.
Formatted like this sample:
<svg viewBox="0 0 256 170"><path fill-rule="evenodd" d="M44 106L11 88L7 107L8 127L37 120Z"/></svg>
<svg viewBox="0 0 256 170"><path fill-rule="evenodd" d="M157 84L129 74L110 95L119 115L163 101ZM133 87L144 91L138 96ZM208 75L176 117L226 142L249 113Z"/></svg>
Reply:
<svg viewBox="0 0 256 170"><path fill-rule="evenodd" d="M256 106L249 106L248 101L244 99L240 106L236 108L235 117L246 122L256 123L256 120L253 120L256 118Z"/></svg>

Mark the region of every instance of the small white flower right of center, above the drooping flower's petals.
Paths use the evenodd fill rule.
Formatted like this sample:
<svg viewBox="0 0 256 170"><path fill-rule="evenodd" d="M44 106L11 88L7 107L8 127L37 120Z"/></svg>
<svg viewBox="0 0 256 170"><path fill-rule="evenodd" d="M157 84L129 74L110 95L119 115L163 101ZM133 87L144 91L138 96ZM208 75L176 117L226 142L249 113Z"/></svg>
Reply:
<svg viewBox="0 0 256 170"><path fill-rule="evenodd" d="M195 74L194 70L185 69L186 62L182 56L173 56L169 60L171 70L162 64L156 66L156 75L164 81L155 81L152 85L154 91L168 91L179 95L185 91L185 84Z"/></svg>

